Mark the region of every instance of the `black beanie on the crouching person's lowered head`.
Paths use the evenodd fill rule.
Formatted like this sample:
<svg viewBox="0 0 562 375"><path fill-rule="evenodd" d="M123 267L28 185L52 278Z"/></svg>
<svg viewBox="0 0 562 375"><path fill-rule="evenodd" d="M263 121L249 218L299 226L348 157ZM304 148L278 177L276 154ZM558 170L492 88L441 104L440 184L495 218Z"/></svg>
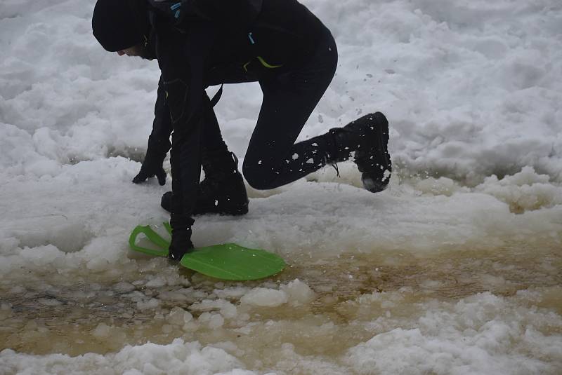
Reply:
<svg viewBox="0 0 562 375"><path fill-rule="evenodd" d="M93 8L92 30L110 52L124 50L144 40L148 32L142 0L98 0Z"/></svg>

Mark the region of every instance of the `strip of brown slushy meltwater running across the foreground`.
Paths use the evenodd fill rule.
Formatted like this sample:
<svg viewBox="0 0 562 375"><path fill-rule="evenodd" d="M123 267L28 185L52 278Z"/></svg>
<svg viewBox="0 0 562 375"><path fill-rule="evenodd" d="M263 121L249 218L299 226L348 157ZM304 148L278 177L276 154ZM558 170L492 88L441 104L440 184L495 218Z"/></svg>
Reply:
<svg viewBox="0 0 562 375"><path fill-rule="evenodd" d="M278 367L287 345L302 356L345 356L377 332L415 327L424 311L447 310L475 294L507 299L510 308L562 315L562 252L553 245L442 250L424 257L303 256L276 277L244 283L212 280L164 259L137 257L132 263L97 275L14 273L17 282L1 283L0 350L105 354L181 337L203 345L228 342L227 352L260 370ZM254 287L279 289L295 279L314 292L306 303L241 302ZM535 327L544 335L562 334L559 324Z"/></svg>

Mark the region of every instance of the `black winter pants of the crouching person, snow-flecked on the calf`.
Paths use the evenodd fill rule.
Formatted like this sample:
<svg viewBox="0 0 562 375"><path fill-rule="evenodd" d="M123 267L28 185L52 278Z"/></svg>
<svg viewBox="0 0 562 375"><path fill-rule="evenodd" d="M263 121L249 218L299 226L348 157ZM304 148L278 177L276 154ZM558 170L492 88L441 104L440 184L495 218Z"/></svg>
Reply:
<svg viewBox="0 0 562 375"><path fill-rule="evenodd" d="M288 184L325 165L328 150L322 137L295 141L332 81L336 64L336 43L327 33L300 67L259 79L263 103L242 167L254 189ZM212 109L205 122L204 154L226 150Z"/></svg>

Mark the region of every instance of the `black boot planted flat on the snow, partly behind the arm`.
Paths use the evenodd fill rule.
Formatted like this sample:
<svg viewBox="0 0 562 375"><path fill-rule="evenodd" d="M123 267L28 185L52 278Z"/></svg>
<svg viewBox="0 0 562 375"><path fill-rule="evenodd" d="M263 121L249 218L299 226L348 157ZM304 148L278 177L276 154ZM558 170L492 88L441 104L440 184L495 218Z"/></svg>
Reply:
<svg viewBox="0 0 562 375"><path fill-rule="evenodd" d="M199 184L194 215L242 215L248 213L248 195L244 179L238 172L238 159L228 153L221 158L204 158L205 178ZM171 210L172 192L162 196L161 205Z"/></svg>

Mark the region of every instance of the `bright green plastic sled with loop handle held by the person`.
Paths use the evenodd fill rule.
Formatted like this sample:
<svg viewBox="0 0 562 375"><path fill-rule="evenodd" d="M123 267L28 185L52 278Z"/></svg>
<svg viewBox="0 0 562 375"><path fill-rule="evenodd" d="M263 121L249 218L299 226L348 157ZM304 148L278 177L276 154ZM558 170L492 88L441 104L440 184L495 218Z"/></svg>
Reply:
<svg viewBox="0 0 562 375"><path fill-rule="evenodd" d="M164 223L166 231L171 234L169 223ZM139 234L158 247L150 249L136 245ZM131 249L153 257L167 257L170 241L162 238L150 226L137 226L129 237ZM285 261L277 254L266 250L248 249L235 243L196 247L183 256L180 264L185 268L221 280L258 280L280 273L285 268Z"/></svg>

